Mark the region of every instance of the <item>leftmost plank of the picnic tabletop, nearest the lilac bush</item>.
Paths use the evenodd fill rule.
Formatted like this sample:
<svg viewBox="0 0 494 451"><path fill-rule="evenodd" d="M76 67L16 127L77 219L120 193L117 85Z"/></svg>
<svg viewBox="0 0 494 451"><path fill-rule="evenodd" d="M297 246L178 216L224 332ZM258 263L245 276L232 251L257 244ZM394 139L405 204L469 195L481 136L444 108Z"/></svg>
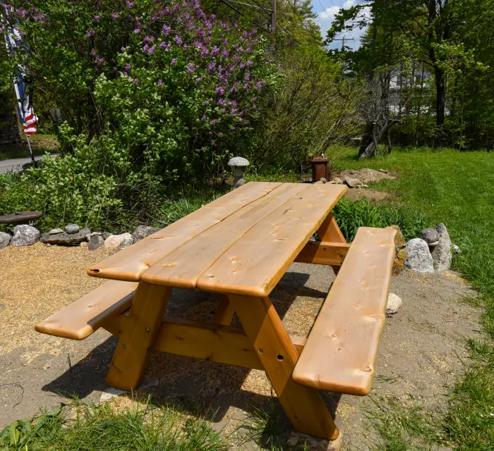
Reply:
<svg viewBox="0 0 494 451"><path fill-rule="evenodd" d="M250 182L219 197L167 228L88 268L94 277L137 282L145 271L208 228L275 190L281 183Z"/></svg>

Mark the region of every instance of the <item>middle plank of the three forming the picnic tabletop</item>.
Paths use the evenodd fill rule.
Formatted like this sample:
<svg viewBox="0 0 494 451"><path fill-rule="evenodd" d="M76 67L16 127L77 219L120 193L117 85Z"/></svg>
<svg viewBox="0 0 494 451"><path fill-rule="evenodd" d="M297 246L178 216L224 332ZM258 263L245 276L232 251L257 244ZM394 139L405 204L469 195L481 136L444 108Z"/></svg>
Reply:
<svg viewBox="0 0 494 451"><path fill-rule="evenodd" d="M236 211L158 261L142 276L146 283L194 289L203 275L227 249L263 218L287 204L307 185L284 183L265 197Z"/></svg>

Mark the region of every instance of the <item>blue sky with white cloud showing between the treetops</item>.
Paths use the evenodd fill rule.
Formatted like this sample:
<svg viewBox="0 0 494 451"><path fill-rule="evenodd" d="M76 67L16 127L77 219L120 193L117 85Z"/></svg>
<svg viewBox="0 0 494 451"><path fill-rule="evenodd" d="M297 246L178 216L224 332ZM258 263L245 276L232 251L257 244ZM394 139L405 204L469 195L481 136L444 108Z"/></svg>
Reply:
<svg viewBox="0 0 494 451"><path fill-rule="evenodd" d="M320 26L321 35L323 35L323 37L326 37L326 32L328 28L331 27L332 20L335 18L335 15L341 8L350 8L351 6L354 6L356 4L364 3L365 2L362 0L312 0L313 11L318 15L315 20ZM369 13L370 8L366 6L366 8L363 9L363 14L368 16ZM351 32L345 33L345 38L354 39L353 41L345 41L345 47L348 46L353 49L358 48L360 45L360 39L365 31L365 29L359 30L359 28L355 28L354 30L351 30ZM339 39L341 39L342 37L343 35L338 36ZM342 42L337 41L333 42L330 45L330 48L336 47L342 47Z"/></svg>

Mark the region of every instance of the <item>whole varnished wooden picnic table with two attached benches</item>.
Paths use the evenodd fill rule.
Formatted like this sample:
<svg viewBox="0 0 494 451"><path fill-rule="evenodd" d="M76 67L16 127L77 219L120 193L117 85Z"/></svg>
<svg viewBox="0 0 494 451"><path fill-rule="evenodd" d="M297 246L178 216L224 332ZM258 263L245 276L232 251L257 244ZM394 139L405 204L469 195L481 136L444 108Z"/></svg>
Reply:
<svg viewBox="0 0 494 451"><path fill-rule="evenodd" d="M112 280L35 328L74 340L109 330L107 383L124 390L138 388L149 350L264 370L297 431L335 439L319 390L369 393L394 258L392 229L344 240L331 211L346 190L247 183L90 266ZM287 333L269 298L293 261L337 273L307 339ZM165 315L174 288L220 293L213 321Z"/></svg>

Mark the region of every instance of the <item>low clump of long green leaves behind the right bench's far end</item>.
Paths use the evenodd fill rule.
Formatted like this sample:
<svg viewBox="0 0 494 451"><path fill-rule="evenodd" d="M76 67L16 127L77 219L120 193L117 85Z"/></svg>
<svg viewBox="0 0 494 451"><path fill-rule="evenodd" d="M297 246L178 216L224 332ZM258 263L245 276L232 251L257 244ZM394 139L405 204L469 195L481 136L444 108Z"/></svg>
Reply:
<svg viewBox="0 0 494 451"><path fill-rule="evenodd" d="M354 202L342 199L333 209L333 214L347 241L351 242L359 227L399 226L405 240L421 236L427 227L426 217L405 207L382 206L366 200Z"/></svg>

